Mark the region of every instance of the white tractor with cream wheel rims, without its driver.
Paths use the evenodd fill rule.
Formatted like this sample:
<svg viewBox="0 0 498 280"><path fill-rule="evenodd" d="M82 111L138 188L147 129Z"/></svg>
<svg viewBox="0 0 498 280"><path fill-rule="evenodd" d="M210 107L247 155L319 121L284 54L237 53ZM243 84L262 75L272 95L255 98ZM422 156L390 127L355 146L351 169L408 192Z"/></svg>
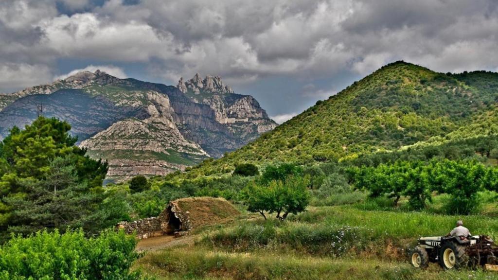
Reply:
<svg viewBox="0 0 498 280"><path fill-rule="evenodd" d="M429 262L438 263L445 270L477 268L498 271L498 246L486 235L469 237L422 237L411 254L411 264L425 269Z"/></svg>

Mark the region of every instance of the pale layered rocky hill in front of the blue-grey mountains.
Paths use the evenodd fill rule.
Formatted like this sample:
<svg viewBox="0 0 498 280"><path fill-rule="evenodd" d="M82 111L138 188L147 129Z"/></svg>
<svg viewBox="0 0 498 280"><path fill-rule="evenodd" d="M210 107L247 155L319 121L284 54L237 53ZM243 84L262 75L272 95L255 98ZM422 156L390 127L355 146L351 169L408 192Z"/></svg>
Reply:
<svg viewBox="0 0 498 280"><path fill-rule="evenodd" d="M144 97L148 101L143 106L144 119L118 121L80 144L92 157L109 160L110 178L166 175L209 156L199 144L182 136L166 95L149 91Z"/></svg>

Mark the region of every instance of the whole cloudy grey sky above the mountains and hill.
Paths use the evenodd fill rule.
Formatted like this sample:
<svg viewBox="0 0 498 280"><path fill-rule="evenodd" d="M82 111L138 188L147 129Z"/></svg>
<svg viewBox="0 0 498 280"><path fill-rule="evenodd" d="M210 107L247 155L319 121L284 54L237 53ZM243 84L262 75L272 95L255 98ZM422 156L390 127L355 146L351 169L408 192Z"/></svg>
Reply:
<svg viewBox="0 0 498 280"><path fill-rule="evenodd" d="M396 60L498 71L497 0L0 0L0 92L221 76L278 123Z"/></svg>

